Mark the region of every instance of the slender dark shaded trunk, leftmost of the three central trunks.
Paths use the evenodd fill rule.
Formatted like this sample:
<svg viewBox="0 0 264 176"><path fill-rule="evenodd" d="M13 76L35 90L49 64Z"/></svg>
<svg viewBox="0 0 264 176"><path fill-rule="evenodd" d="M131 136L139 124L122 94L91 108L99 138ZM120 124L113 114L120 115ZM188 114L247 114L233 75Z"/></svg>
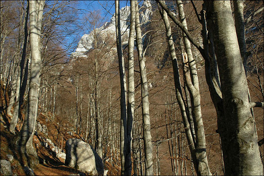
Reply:
<svg viewBox="0 0 264 176"><path fill-rule="evenodd" d="M120 121L120 156L121 156L121 175L126 174L125 162L127 156L128 138L127 138L127 86L126 86L126 75L125 75L125 64L122 54L122 43L121 43L121 29L120 29L120 8L119 0L115 0L115 32L116 32L116 47L119 65L120 75L120 107L121 107L121 121Z"/></svg>

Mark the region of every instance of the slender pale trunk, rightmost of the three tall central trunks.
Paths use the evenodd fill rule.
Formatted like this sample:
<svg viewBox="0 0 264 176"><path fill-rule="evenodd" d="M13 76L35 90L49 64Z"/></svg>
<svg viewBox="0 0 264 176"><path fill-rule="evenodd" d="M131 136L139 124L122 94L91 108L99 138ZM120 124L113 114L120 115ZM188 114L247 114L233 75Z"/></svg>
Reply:
<svg viewBox="0 0 264 176"><path fill-rule="evenodd" d="M136 1L137 2L137 1ZM153 175L153 155L152 155L152 137L151 137L151 123L149 112L149 91L148 79L146 74L145 58L143 55L142 35L139 22L138 6L136 5L135 15L135 31L136 31L136 44L138 52L138 62L141 80L141 102L142 102L142 117L143 117L143 138L145 150L145 175Z"/></svg>

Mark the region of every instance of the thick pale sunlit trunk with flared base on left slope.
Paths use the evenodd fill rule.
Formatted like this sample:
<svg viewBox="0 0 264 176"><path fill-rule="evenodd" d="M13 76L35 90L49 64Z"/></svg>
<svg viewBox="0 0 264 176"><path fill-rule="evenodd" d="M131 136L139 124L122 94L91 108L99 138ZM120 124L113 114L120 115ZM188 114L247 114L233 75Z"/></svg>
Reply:
<svg viewBox="0 0 264 176"><path fill-rule="evenodd" d="M31 44L31 72L28 91L27 111L21 132L15 137L14 143L20 146L23 164L25 156L30 167L38 163L37 153L32 145L35 124L38 113L38 98L40 87L40 66L41 66L41 26L43 17L44 0L29 1L30 20L30 44ZM32 165L32 166L31 166Z"/></svg>

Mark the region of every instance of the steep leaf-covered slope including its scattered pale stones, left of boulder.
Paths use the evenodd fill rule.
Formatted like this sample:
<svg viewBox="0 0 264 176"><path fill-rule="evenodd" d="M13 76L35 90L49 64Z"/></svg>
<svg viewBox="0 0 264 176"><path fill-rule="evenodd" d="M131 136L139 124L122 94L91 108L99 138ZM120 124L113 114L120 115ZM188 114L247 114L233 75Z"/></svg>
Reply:
<svg viewBox="0 0 264 176"><path fill-rule="evenodd" d="M14 134L9 132L8 126L11 121L11 116L6 114L5 103L9 103L8 88L4 93L5 86L1 81L0 88L0 101L1 101L1 113L0 113L0 159L8 159L8 154L13 156L11 161L11 168L13 175L22 176L26 175L22 167L20 154L16 151L10 141ZM22 110L23 111L23 110ZM39 110L40 111L40 110ZM13 112L13 109L11 110ZM19 119L16 127L16 132L22 128L22 122L24 119L24 113L22 112L22 119ZM32 168L35 175L39 176L62 176L62 175L82 175L83 173L78 172L74 168L70 168L65 165L65 143L69 138L82 139L82 136L77 135L68 128L61 126L61 117L54 117L53 114L48 112L44 114L39 113L36 123L36 131L33 137L33 147L36 149L39 164L35 168ZM59 123L60 122L60 123ZM69 123L69 122L64 122ZM63 134L63 138L61 137ZM105 162L105 170L108 170L108 175L120 174L119 163L113 158L113 162Z"/></svg>

